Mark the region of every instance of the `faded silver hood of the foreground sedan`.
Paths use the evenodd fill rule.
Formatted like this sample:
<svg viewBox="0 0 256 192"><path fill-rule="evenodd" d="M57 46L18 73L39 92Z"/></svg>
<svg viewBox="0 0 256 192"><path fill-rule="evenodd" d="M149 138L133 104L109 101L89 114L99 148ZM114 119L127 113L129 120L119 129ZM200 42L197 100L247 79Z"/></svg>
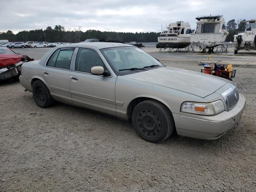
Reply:
<svg viewBox="0 0 256 192"><path fill-rule="evenodd" d="M224 78L172 67L161 67L123 77L187 92L202 98L229 82Z"/></svg>

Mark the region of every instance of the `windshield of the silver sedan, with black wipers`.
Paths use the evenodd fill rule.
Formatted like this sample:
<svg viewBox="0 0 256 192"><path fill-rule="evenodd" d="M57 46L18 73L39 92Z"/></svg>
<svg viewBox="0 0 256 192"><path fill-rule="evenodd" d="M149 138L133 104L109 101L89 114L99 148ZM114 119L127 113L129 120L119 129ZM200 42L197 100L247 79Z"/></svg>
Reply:
<svg viewBox="0 0 256 192"><path fill-rule="evenodd" d="M158 60L136 47L113 47L100 50L117 75L132 74L164 67Z"/></svg>

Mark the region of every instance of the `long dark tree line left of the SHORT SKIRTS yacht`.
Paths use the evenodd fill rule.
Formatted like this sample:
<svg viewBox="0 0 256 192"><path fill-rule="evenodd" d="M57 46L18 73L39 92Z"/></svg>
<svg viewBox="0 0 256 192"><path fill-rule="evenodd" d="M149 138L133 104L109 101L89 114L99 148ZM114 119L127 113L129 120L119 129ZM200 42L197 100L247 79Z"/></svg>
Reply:
<svg viewBox="0 0 256 192"><path fill-rule="evenodd" d="M102 32L99 30L87 30L86 32L82 32L80 26L74 30L66 30L63 26L56 25L54 28L49 26L45 30L24 30L17 34L8 30L7 32L0 32L0 39L9 40L9 42L42 41L75 43L90 38L103 38L106 40L118 40L121 42L157 42L159 34L160 33L156 32Z"/></svg>

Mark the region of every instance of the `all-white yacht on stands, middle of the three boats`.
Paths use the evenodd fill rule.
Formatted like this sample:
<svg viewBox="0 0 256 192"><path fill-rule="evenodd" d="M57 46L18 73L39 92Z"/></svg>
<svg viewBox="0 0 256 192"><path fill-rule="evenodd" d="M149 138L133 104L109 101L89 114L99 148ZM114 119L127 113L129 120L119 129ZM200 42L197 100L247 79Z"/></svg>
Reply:
<svg viewBox="0 0 256 192"><path fill-rule="evenodd" d="M228 31L222 15L198 16L196 20L196 30L190 34L192 43L211 45L225 42Z"/></svg>

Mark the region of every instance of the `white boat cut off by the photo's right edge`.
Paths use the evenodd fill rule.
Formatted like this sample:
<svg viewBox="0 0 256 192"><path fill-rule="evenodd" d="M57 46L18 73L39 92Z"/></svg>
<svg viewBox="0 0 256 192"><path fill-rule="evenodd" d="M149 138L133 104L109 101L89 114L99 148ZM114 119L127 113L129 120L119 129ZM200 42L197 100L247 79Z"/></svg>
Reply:
<svg viewBox="0 0 256 192"><path fill-rule="evenodd" d="M246 28L244 32L238 32L234 35L235 51L237 54L238 50L254 50L256 41L256 20L251 19L246 21Z"/></svg>

